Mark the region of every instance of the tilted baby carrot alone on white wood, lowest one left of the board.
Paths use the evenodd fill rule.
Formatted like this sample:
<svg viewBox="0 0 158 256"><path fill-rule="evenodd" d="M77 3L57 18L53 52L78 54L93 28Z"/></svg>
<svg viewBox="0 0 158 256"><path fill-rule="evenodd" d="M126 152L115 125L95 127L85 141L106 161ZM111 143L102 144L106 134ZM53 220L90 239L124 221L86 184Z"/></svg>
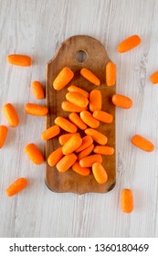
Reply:
<svg viewBox="0 0 158 256"><path fill-rule="evenodd" d="M27 186L27 184L28 184L27 179L25 177L20 177L5 189L5 193L8 197L13 197L17 193L22 191Z"/></svg>

